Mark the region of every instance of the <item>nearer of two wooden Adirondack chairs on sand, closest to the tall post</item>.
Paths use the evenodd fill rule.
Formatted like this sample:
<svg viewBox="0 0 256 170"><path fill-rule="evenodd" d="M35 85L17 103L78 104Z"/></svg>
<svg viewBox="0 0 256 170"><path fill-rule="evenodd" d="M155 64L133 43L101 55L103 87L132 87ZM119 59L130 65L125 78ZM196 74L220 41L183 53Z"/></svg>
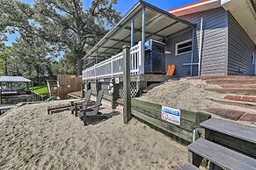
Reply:
<svg viewBox="0 0 256 170"><path fill-rule="evenodd" d="M99 106L102 105L101 101L103 98L103 90L101 89L98 93L96 103L94 106L83 108L79 113L78 117L83 120L84 125L88 125L88 118L97 117L99 115Z"/></svg>

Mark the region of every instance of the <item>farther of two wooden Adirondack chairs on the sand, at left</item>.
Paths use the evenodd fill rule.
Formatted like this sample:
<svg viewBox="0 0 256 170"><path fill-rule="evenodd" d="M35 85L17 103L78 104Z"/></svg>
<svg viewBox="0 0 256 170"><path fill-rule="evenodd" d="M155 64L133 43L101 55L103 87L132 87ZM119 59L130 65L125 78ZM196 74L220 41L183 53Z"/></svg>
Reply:
<svg viewBox="0 0 256 170"><path fill-rule="evenodd" d="M93 101L90 100L91 93L92 93L92 90L89 89L83 101L71 102L71 106L70 106L71 114L75 113L75 116L77 117L77 111L79 109L82 109L83 107L86 108L87 105L94 104Z"/></svg>

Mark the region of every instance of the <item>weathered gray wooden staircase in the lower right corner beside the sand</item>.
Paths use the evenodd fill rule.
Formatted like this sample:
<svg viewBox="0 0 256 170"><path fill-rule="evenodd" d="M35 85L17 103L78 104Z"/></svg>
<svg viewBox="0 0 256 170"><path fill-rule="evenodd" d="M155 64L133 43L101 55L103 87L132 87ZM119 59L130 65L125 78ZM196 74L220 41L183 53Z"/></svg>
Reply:
<svg viewBox="0 0 256 170"><path fill-rule="evenodd" d="M180 170L256 170L256 129L210 118L201 125L201 138L187 146L190 163ZM209 164L208 164L209 163Z"/></svg>

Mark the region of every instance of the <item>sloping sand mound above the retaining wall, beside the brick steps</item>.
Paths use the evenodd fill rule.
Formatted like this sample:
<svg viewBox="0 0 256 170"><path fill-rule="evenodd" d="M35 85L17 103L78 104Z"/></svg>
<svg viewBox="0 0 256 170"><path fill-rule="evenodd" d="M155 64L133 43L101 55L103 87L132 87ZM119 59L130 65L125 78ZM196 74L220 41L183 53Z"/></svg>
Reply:
<svg viewBox="0 0 256 170"><path fill-rule="evenodd" d="M153 89L150 89L141 100L162 103L182 110L201 111L206 108L218 107L208 98L223 99L224 94L219 94L204 89L219 88L217 85L209 85L206 81L194 79L181 79L179 81L167 81Z"/></svg>

